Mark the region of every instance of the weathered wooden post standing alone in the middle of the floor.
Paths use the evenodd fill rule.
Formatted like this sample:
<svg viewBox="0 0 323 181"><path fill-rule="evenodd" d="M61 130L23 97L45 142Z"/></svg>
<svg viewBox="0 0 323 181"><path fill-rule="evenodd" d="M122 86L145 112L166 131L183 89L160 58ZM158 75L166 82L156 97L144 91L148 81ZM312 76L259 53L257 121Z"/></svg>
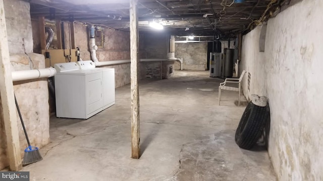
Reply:
<svg viewBox="0 0 323 181"><path fill-rule="evenodd" d="M131 158L140 157L140 117L139 117L139 34L137 1L130 1L130 57L131 57Z"/></svg>

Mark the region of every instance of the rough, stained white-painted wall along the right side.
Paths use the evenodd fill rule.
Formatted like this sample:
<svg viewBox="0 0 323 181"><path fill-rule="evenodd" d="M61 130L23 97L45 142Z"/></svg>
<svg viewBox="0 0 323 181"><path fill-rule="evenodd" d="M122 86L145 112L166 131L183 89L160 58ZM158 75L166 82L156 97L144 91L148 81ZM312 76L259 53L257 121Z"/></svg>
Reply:
<svg viewBox="0 0 323 181"><path fill-rule="evenodd" d="M260 27L243 37L250 91L269 99L268 153L279 180L323 180L322 9L321 0L302 1L269 20L264 54Z"/></svg>

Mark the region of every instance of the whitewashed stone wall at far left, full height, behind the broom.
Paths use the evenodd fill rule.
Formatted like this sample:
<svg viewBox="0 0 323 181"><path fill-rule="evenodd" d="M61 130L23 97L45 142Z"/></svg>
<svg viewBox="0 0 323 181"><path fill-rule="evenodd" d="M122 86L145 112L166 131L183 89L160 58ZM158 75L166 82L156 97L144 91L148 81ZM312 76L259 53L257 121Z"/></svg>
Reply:
<svg viewBox="0 0 323 181"><path fill-rule="evenodd" d="M4 1L8 44L12 71L45 67L43 55L33 51L30 5L24 1ZM27 53L30 57L25 54ZM22 113L30 142L42 147L49 142L49 106L47 79L14 82L14 91ZM0 105L2 107L2 105ZM8 166L6 132L0 109L0 169ZM26 138L17 113L21 156L27 147Z"/></svg>

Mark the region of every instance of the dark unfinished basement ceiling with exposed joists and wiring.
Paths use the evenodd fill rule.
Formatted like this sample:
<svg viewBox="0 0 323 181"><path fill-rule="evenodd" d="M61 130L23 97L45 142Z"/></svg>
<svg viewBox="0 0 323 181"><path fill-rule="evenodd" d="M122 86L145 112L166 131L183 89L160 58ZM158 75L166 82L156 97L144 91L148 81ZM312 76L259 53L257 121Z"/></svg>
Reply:
<svg viewBox="0 0 323 181"><path fill-rule="evenodd" d="M234 2L233 2L234 1ZM149 22L173 34L229 34L246 31L271 4L275 11L285 0L139 0L141 31ZM129 29L129 0L30 0L32 17L79 21L113 29ZM270 13L267 11L267 13Z"/></svg>

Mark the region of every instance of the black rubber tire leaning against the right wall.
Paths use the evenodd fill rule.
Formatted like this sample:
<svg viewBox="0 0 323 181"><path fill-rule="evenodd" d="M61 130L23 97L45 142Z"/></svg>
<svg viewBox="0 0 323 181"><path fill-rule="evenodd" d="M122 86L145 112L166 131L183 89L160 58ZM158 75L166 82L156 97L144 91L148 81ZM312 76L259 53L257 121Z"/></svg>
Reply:
<svg viewBox="0 0 323 181"><path fill-rule="evenodd" d="M240 148L250 150L263 132L270 116L269 106L260 107L252 102L248 104L236 130L235 141Z"/></svg>

